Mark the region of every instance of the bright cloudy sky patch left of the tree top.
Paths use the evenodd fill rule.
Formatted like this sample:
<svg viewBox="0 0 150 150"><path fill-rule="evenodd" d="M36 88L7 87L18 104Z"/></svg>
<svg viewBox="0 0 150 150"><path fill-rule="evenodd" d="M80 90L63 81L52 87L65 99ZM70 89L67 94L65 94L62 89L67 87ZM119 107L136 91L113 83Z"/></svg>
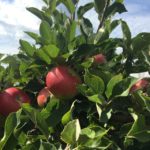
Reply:
<svg viewBox="0 0 150 150"><path fill-rule="evenodd" d="M42 0L0 0L0 53L17 53L19 39L25 38L24 31L37 31L40 20L26 7L41 9Z"/></svg>

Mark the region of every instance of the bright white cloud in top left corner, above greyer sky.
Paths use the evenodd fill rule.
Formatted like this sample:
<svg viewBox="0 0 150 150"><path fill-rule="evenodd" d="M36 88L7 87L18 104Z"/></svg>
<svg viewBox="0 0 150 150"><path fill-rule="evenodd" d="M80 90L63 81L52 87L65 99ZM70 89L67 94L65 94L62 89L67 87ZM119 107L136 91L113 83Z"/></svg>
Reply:
<svg viewBox="0 0 150 150"><path fill-rule="evenodd" d="M0 1L0 20L10 25L38 29L39 20L26 7L41 8L42 5L41 0L15 0L13 3Z"/></svg>

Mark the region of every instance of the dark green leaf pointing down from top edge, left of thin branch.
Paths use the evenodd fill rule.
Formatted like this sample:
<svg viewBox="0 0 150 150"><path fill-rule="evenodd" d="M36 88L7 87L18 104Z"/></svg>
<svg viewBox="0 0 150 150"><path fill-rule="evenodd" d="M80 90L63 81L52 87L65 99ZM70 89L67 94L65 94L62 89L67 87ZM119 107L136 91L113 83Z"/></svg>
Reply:
<svg viewBox="0 0 150 150"><path fill-rule="evenodd" d="M106 0L94 0L95 10L99 15L103 12L105 5Z"/></svg>

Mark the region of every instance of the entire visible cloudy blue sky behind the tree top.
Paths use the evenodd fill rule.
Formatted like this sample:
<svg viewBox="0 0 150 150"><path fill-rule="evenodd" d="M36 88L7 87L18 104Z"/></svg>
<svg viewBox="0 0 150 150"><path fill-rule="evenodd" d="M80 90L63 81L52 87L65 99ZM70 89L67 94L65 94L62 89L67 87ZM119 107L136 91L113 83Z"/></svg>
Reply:
<svg viewBox="0 0 150 150"><path fill-rule="evenodd" d="M91 0L80 0L83 5ZM0 53L13 54L18 52L19 39L28 39L23 31L38 32L40 20L26 11L26 7L43 6L42 0L0 0ZM150 0L125 0L127 13L117 15L127 21L132 35L139 32L150 32ZM91 17L92 16L92 17ZM96 30L99 22L93 12L86 17L94 22ZM113 35L120 36L119 29Z"/></svg>

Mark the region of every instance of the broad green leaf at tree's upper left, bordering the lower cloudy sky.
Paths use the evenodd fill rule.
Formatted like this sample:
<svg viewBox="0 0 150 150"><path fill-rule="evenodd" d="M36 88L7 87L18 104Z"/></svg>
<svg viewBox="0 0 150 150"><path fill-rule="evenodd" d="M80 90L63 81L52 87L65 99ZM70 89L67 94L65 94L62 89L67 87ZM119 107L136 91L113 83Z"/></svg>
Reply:
<svg viewBox="0 0 150 150"><path fill-rule="evenodd" d="M24 51L28 56L33 56L35 47L31 46L27 41L20 40L21 50Z"/></svg>

